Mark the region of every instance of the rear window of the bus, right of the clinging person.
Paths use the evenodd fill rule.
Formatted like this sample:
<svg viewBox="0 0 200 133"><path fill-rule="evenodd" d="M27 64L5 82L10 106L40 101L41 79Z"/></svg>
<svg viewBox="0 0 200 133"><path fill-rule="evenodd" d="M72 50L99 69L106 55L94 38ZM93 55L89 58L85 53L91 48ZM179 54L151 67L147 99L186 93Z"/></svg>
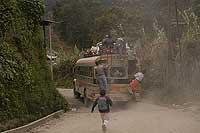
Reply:
<svg viewBox="0 0 200 133"><path fill-rule="evenodd" d="M125 77L126 69L124 67L111 67L110 76L111 77Z"/></svg>

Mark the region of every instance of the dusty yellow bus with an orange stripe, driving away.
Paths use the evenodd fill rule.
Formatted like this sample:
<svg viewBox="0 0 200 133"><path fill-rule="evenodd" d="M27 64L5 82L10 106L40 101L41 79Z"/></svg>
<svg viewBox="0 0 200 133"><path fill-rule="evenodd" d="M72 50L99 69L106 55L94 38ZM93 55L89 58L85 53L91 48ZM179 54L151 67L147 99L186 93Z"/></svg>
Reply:
<svg viewBox="0 0 200 133"><path fill-rule="evenodd" d="M113 101L127 102L131 97L128 92L128 55L101 55L79 59L74 67L74 95L84 98L87 106L99 96L99 86L95 75L95 62L108 65L106 77L108 81L107 95Z"/></svg>

